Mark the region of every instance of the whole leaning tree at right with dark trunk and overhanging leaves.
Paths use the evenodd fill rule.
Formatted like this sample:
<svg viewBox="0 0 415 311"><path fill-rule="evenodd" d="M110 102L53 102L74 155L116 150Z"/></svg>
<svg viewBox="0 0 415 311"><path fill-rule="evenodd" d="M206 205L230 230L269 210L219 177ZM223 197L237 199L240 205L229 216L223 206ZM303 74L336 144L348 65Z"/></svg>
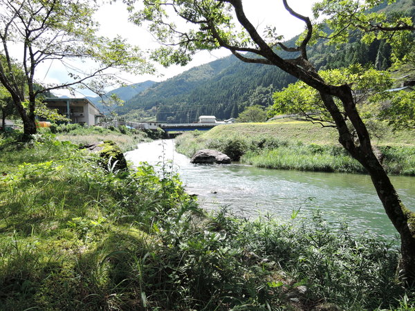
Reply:
<svg viewBox="0 0 415 311"><path fill-rule="evenodd" d="M130 10L133 11L133 1L128 2ZM321 97L324 108L331 115L338 131L340 144L365 167L371 176L385 212L400 234L401 276L405 277L407 284L413 283L415 281L415 213L403 205L385 169L376 158L367 127L356 109L351 87L348 84L338 85L327 82L309 61L307 46L321 35L322 28L315 28L311 19L295 12L288 5L287 0L282 2L289 14L304 21L306 25L306 31L296 46L286 46L273 27L269 27L264 35L259 33L258 28L246 16L242 0L145 0L144 9L133 11L131 19L138 24L147 20L149 28L160 41L166 44L154 54L154 59L158 59L162 64L186 64L196 50L214 50L223 47L243 62L277 66L315 89ZM355 2L358 3L352 0L326 0L322 1L320 10L329 7L332 3L342 6ZM371 6L380 3L374 0L368 2ZM264 10L267 8L264 7ZM169 20L169 13L183 18L191 25L191 29L181 30ZM335 12L324 12L324 14L335 15ZM405 19L405 23L409 25L409 30L403 27L396 32L413 31L410 24L412 21ZM240 28L237 28L237 25ZM340 23L340 25L347 28L349 23ZM367 31L370 32L371 29ZM388 29L385 28L385 31ZM291 53L292 57L282 58L277 53L276 47ZM338 99L342 111L335 99Z"/></svg>

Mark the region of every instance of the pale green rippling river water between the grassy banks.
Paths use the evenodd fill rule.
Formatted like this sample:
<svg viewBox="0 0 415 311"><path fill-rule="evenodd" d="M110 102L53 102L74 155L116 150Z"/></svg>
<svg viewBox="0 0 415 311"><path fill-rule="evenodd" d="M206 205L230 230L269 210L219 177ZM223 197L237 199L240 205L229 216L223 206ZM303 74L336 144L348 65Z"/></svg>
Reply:
<svg viewBox="0 0 415 311"><path fill-rule="evenodd" d="M205 209L228 206L235 214L256 218L259 214L291 219L294 210L308 217L316 209L329 221L349 223L353 231L395 237L369 176L348 173L315 173L260 169L243 164L191 164L174 150L174 140L138 145L126 153L135 165L171 161L187 192L197 194ZM415 207L415 177L392 176L405 205Z"/></svg>

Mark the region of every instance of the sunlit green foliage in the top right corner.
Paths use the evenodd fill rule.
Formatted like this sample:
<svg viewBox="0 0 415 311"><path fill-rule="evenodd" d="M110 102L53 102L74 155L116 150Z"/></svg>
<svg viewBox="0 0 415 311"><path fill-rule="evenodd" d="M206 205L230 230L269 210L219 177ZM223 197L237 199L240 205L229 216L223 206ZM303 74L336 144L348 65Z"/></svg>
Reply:
<svg viewBox="0 0 415 311"><path fill-rule="evenodd" d="M323 36L328 37L332 44L339 46L349 42L351 36L358 35L365 44L386 40L391 45L394 62L405 62L409 51L414 48L412 32L415 27L412 17L415 12L405 12L403 9L411 6L412 0L392 0L387 3L382 0L324 0L314 4L313 12L320 26L326 28L326 31L322 31Z"/></svg>

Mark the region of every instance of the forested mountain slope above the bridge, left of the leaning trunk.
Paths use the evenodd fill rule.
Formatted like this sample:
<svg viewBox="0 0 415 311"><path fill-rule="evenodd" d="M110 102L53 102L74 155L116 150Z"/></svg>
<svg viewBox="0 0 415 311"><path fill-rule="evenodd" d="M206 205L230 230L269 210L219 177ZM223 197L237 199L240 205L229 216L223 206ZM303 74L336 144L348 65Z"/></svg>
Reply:
<svg viewBox="0 0 415 311"><path fill-rule="evenodd" d="M232 55L154 84L118 113L127 120L142 120L157 111L160 122L194 122L199 115L227 119L237 117L245 106L270 105L270 94L292 82L295 78L278 68L246 64Z"/></svg>

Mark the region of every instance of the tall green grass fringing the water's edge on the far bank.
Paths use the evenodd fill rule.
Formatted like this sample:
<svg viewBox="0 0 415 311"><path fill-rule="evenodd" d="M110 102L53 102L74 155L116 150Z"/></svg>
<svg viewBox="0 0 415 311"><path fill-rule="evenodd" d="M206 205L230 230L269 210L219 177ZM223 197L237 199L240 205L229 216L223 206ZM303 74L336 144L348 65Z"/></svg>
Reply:
<svg viewBox="0 0 415 311"><path fill-rule="evenodd" d="M362 165L338 144L302 142L297 137L282 140L264 133L242 135L230 132L227 126L223 129L226 129L223 135L219 135L220 129L216 129L214 135L209 132L185 133L176 138L177 151L192 157L200 149L216 149L234 161L268 169L365 173ZM415 147L381 146L378 149L383 154L382 164L388 173L415 175Z"/></svg>

